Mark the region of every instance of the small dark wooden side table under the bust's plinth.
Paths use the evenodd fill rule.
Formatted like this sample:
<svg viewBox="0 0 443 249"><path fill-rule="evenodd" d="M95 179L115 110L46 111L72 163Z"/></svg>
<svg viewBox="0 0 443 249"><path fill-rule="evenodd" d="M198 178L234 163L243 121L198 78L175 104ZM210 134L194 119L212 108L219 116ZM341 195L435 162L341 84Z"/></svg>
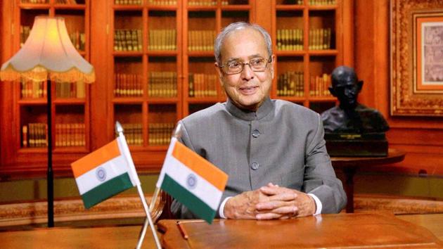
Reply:
<svg viewBox="0 0 443 249"><path fill-rule="evenodd" d="M402 162L405 153L390 148L386 157L378 158L330 158L333 167L345 174L345 191L347 196L346 212L354 212L354 174L360 168L379 167L394 162Z"/></svg>

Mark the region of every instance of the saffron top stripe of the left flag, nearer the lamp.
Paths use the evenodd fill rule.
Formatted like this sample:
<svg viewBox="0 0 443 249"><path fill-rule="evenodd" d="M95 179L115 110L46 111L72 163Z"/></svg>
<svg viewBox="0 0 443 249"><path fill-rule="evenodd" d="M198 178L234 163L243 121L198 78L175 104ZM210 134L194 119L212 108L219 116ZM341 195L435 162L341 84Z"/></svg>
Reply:
<svg viewBox="0 0 443 249"><path fill-rule="evenodd" d="M118 148L117 140L114 140L99 148L97 151L94 151L83 158L72 162L71 167L74 177L77 178L89 170L94 169L94 167L102 165L104 162L116 158L119 155L120 150Z"/></svg>

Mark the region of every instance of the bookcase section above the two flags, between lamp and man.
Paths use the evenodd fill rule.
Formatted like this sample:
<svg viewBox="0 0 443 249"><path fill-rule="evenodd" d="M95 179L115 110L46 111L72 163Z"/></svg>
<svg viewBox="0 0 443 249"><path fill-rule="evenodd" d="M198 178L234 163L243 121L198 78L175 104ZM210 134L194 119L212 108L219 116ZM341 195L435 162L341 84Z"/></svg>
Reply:
<svg viewBox="0 0 443 249"><path fill-rule="evenodd" d="M181 118L181 1L115 1L110 9L108 137L122 123L134 161L146 165L141 154L165 153Z"/></svg>

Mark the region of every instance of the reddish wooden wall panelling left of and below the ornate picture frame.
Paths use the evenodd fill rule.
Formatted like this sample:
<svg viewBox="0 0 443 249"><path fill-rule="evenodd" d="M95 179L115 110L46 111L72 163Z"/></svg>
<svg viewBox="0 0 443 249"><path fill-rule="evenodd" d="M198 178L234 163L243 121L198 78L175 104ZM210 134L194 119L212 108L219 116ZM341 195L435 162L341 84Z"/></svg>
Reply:
<svg viewBox="0 0 443 249"><path fill-rule="evenodd" d="M390 110L390 1L355 1L355 68L364 80L359 101L380 110L390 146L406 151L402 172L443 175L443 118L392 117Z"/></svg>

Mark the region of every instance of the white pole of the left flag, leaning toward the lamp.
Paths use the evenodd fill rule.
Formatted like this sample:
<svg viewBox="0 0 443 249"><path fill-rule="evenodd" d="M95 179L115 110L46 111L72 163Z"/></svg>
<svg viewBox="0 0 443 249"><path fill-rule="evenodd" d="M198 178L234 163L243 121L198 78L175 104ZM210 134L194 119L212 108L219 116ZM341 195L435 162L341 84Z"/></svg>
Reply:
<svg viewBox="0 0 443 249"><path fill-rule="evenodd" d="M122 127L122 125L120 125L120 122L118 122L118 121L115 122L115 130L118 134L118 138L124 144L124 146L122 146L123 152L126 155L125 158L128 160L129 166L131 167L131 174L132 174L132 177L134 178L135 184L137 186L137 191L139 192L141 203L143 204L143 209L146 212L145 223L143 224L143 227L141 228L140 235L139 235L139 241L137 243L136 248L137 249L141 248L141 244L143 243L143 239L145 238L145 234L146 234L146 222L149 222L150 230L153 232L155 245L157 246L158 249L161 249L162 246L160 245L160 241L158 240L158 236L157 236L157 232L155 230L154 224L153 224L153 220L150 217L148 204L146 203L145 195L143 194L143 190L141 189L139 175L137 174L137 172L135 170L134 162L132 161L131 153L129 152L129 148L126 143L126 138L124 137L124 134L123 134L123 127Z"/></svg>

